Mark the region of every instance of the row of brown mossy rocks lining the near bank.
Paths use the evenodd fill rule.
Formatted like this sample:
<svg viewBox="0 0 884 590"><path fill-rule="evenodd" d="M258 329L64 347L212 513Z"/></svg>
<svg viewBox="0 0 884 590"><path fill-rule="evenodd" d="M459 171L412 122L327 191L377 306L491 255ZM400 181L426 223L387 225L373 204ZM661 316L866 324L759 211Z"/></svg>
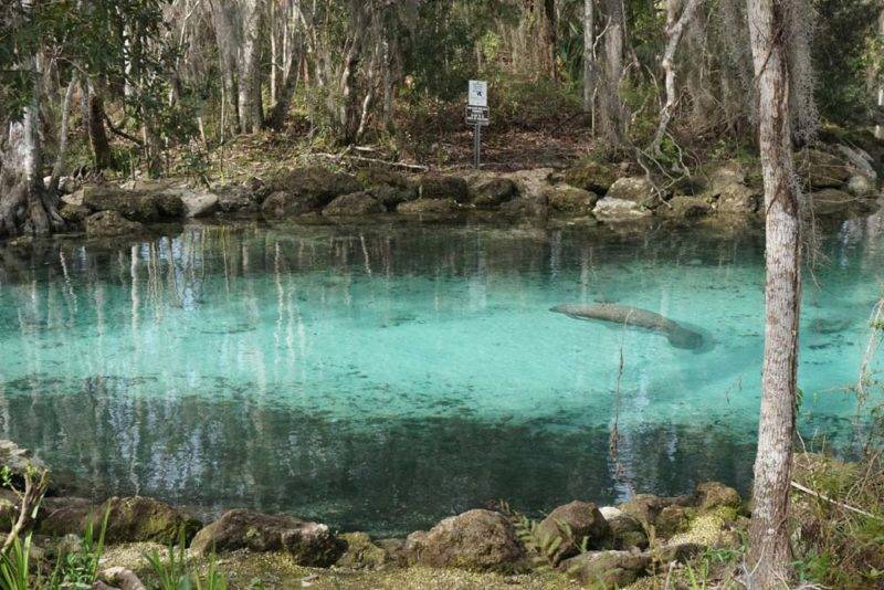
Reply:
<svg viewBox="0 0 884 590"><path fill-rule="evenodd" d="M0 463L12 473L22 473L33 461L14 443L0 444ZM3 530L10 529L18 515L18 499L12 491L0 489ZM87 527L101 528L105 515L108 550L102 569L109 584L118 582L120 571L144 575L146 548L161 551L183 539L188 555L197 560L217 557L235 565L267 555L290 566L318 568L318 573L307 576L409 568L503 577L554 572L569 583L622 588L687 562L708 548L738 547L747 513L735 489L708 482L692 495L640 494L619 506L599 507L576 499L539 521L505 505L475 508L406 538L373 539L291 515L238 508L201 523L183 509L149 497L94 503L51 492L32 523L39 554L57 556L61 547L76 547L78 536Z"/></svg>

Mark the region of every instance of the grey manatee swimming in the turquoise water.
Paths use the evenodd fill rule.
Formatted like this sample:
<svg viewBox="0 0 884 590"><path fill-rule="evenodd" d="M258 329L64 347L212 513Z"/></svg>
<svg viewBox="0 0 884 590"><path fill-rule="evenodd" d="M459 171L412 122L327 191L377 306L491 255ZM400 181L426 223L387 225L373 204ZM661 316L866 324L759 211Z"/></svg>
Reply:
<svg viewBox="0 0 884 590"><path fill-rule="evenodd" d="M695 350L703 346L703 335L687 329L681 324L666 317L640 309L629 305L617 305L612 303L598 304L576 304L566 303L550 308L550 312L565 314L576 319L599 319L612 324L635 326L663 334L670 344L676 348L687 348Z"/></svg>

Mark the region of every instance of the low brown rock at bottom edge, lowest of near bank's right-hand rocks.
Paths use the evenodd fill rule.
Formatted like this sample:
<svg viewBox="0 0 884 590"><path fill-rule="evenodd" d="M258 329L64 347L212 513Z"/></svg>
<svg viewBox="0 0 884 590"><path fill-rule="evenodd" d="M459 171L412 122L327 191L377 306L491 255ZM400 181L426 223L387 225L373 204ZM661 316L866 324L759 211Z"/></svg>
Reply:
<svg viewBox="0 0 884 590"><path fill-rule="evenodd" d="M566 559L559 569L591 588L625 588L649 573L651 557L632 551L591 551Z"/></svg>

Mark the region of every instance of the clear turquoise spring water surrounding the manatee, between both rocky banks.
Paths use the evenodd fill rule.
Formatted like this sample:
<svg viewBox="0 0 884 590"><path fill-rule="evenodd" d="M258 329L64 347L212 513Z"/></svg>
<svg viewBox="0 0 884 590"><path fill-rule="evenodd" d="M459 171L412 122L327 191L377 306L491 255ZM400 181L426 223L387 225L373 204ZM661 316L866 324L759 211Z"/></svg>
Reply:
<svg viewBox="0 0 884 590"><path fill-rule="evenodd" d="M802 431L846 452L882 230L827 230L806 287ZM378 534L497 498L746 489L762 285L758 231L192 226L8 250L0 434L96 496ZM705 345L549 312L579 302L659 312Z"/></svg>

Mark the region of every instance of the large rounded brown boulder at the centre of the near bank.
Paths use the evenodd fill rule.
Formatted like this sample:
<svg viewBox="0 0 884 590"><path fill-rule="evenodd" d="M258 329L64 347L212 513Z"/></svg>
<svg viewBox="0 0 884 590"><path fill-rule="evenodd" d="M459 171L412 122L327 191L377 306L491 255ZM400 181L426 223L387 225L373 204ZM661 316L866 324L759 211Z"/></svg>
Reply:
<svg viewBox="0 0 884 590"><path fill-rule="evenodd" d="M512 572L523 566L525 548L499 513L475 509L445 518L425 536L409 536L418 563L436 568Z"/></svg>

